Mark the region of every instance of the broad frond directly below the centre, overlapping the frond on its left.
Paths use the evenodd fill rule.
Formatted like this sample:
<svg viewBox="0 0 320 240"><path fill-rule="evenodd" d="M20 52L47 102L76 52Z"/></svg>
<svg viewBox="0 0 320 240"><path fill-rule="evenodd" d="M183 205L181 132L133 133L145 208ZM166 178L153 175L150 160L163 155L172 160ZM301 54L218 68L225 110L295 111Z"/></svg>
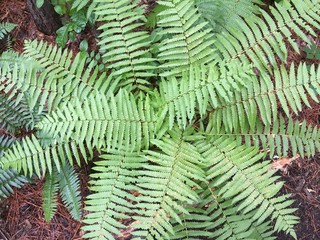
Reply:
<svg viewBox="0 0 320 240"><path fill-rule="evenodd" d="M138 186L136 205L140 216L134 227L134 239L169 239L174 235L170 218L182 224L181 214L189 214L186 204L198 201L194 189L204 180L203 158L191 144L181 140L182 134L171 132L171 138L152 141L161 151L146 151L150 162L144 165ZM139 238L140 237L140 238Z"/></svg>

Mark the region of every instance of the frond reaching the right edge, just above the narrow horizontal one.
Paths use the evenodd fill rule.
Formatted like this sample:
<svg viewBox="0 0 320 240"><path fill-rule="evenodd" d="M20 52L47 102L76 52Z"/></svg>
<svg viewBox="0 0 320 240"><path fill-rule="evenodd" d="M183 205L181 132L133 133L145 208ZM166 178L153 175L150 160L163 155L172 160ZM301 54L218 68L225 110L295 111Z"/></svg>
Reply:
<svg viewBox="0 0 320 240"><path fill-rule="evenodd" d="M258 116L263 124L270 126L278 118L280 105L286 115L298 114L309 100L318 102L320 93L320 68L300 64L291 65L289 73L284 66L274 70L273 76L261 74L260 78L246 82L240 92L234 92L229 101L220 97L218 107L211 113L211 127L223 126L227 132L255 128Z"/></svg>

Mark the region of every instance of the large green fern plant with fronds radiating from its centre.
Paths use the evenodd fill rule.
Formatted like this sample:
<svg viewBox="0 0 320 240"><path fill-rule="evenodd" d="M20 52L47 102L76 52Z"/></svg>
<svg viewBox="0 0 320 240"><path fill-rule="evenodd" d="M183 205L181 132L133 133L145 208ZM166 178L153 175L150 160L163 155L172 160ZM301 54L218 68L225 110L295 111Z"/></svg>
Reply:
<svg viewBox="0 0 320 240"><path fill-rule="evenodd" d="M139 1L83 4L100 22L103 67L42 41L0 59L1 126L32 129L3 138L1 167L45 177L45 218L60 190L88 239L116 239L123 219L132 239L297 238L267 159L320 148L318 127L293 120L319 100L320 69L285 67L283 44L310 42L320 1L166 0L152 18ZM89 161L83 216L73 166Z"/></svg>

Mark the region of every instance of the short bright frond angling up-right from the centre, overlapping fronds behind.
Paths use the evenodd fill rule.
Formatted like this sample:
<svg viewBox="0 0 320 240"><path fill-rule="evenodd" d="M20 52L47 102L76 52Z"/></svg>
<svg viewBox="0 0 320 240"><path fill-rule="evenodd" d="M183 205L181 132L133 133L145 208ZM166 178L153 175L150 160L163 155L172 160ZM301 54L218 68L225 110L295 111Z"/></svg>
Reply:
<svg viewBox="0 0 320 240"><path fill-rule="evenodd" d="M244 65L231 67L223 62L210 67L192 65L181 78L170 76L161 81L159 115L168 115L170 129L175 122L185 128L196 114L202 117L208 108L217 108L219 98L225 102L233 99L242 85L252 82L253 75L251 67Z"/></svg>

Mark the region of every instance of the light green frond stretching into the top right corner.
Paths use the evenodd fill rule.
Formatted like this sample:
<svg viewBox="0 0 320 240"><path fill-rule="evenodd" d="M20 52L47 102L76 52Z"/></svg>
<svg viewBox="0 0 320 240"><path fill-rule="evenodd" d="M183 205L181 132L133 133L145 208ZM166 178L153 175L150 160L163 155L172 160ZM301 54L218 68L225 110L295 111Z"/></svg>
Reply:
<svg viewBox="0 0 320 240"><path fill-rule="evenodd" d="M269 70L269 64L277 65L276 56L286 61L285 40L299 53L292 32L306 43L310 43L308 34L316 36L312 28L320 28L320 3L317 0L285 1L270 8L271 15L261 10L263 19L239 20L236 27L217 34L215 46L222 59L246 63L249 58L259 69Z"/></svg>

